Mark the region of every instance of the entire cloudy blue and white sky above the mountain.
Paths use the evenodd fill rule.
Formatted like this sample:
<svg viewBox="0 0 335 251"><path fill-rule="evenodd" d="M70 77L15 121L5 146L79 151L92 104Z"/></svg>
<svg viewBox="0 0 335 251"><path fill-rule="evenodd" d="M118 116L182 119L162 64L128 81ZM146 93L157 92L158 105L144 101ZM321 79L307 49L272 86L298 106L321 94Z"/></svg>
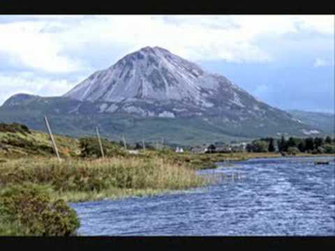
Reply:
<svg viewBox="0 0 335 251"><path fill-rule="evenodd" d="M146 46L281 109L334 112L334 15L0 15L0 105L61 96Z"/></svg>

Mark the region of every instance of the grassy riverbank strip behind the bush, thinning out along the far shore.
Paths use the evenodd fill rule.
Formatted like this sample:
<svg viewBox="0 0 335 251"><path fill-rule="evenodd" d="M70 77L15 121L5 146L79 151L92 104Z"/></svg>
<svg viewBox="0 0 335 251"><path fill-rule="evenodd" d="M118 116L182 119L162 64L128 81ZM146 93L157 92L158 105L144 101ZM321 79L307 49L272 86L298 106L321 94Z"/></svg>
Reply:
<svg viewBox="0 0 335 251"><path fill-rule="evenodd" d="M322 157L299 153L298 157ZM174 153L140 151L139 155L105 159L18 158L0 162L0 190L7 185L49 185L54 199L68 202L158 195L206 185L195 174L216 168L218 162L251 158L280 158L279 153Z"/></svg>

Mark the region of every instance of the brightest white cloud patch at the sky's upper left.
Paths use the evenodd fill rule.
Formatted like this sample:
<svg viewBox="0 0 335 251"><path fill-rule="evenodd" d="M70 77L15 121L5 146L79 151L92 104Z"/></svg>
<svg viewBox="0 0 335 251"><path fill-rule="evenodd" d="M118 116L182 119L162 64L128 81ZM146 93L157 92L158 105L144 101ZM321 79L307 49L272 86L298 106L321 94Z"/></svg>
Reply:
<svg viewBox="0 0 335 251"><path fill-rule="evenodd" d="M54 24L57 26L60 24ZM47 22L14 22L0 24L0 51L12 61L28 68L51 73L68 73L80 69L80 62L61 55L64 45L51 33L41 33ZM58 42L58 43L57 43Z"/></svg>

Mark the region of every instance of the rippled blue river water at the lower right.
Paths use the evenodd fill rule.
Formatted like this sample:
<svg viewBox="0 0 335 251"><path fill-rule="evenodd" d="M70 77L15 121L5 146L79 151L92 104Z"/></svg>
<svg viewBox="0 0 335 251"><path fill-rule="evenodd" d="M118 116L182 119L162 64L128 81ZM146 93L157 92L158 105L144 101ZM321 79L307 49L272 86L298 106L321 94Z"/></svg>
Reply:
<svg viewBox="0 0 335 251"><path fill-rule="evenodd" d="M314 165L330 160L329 165ZM198 172L205 188L70 204L80 235L334 236L334 158L266 158Z"/></svg>

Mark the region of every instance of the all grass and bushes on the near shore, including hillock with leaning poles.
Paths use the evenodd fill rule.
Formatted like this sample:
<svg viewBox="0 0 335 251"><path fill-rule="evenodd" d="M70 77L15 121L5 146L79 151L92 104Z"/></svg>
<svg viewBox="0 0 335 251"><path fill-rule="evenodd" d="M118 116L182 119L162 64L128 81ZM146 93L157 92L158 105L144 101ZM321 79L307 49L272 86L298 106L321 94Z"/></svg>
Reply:
<svg viewBox="0 0 335 251"><path fill-rule="evenodd" d="M0 235L75 235L80 223L75 211L66 204L68 201L155 195L195 188L211 182L197 176L196 169L215 167L215 162L227 160L281 155L279 151L269 151L271 140L268 139L251 144L255 147L260 142L267 151L253 148L250 153L175 153L174 149L162 145L146 143L143 149L137 143L127 144L125 148L123 142L102 139L105 158L101 158L96 138L73 139L60 135L54 138L60 161L54 157L47 134L20 124L0 124ZM307 139L303 142L309 147ZM320 146L327 149L329 139L320 145L315 142L318 140L313 139L315 149ZM292 147L291 143L286 146L281 151Z"/></svg>

